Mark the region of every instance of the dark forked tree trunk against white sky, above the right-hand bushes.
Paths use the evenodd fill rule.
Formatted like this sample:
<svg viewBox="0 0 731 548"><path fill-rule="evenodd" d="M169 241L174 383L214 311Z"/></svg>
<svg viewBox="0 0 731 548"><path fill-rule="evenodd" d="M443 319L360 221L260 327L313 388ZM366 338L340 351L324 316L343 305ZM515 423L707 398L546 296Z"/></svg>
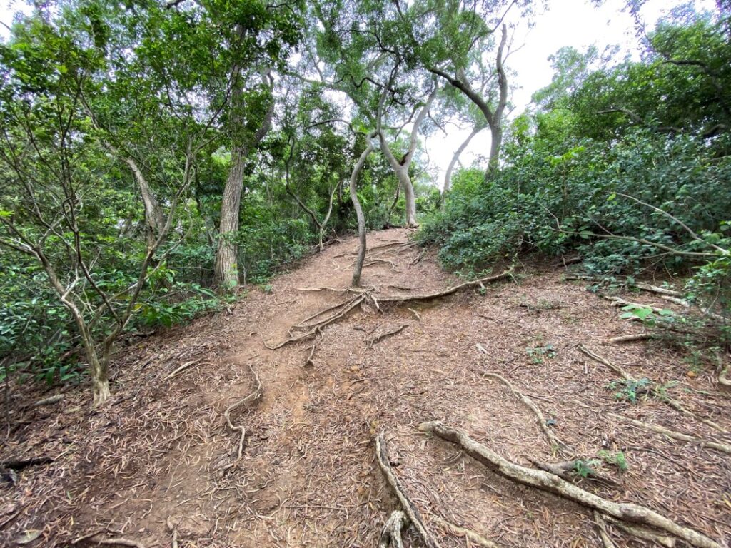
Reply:
<svg viewBox="0 0 731 548"><path fill-rule="evenodd" d="M469 80L463 70L456 71L454 76L450 75L444 70L437 67L429 67L428 70L432 74L441 76L444 80L450 83L453 87L457 88L467 98L477 105L480 112L485 116L485 121L488 123L491 134L490 144L490 160L488 161L488 169L485 172L485 178L491 176L499 165L500 150L502 147L502 123L505 114L505 108L507 107L508 99L508 86L507 86L507 74L505 72L504 61L506 57L505 45L507 44L507 25L502 24L500 44L495 60L495 69L498 80L498 97L497 104L491 105L488 99L485 99L480 91L476 91L469 83Z"/></svg>

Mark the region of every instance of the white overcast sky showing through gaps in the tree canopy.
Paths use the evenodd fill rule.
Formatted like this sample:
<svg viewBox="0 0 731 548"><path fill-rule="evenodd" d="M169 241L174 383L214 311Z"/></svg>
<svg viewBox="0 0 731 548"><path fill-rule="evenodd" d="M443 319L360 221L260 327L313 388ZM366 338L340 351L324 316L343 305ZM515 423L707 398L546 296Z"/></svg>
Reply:
<svg viewBox="0 0 731 548"><path fill-rule="evenodd" d="M656 21L667 14L673 7L687 0L648 0L641 12L648 28L653 28ZM700 9L713 9L713 0L696 0ZM23 7L24 2L18 0L0 0L0 23L10 25L12 13ZM638 44L635 38L635 27L632 16L623 12L625 0L606 0L602 7L595 7L588 0L551 0L548 9L537 13L534 26L528 28L520 19L510 20L515 24L513 48L507 66L516 74L515 84L518 89L512 95L514 105L512 115L517 115L528 106L531 95L550 83L553 77L548 57L564 46L572 46L577 50L586 50L589 45L596 45L601 53L608 45L619 45L620 56L631 53L638 56ZM513 16L516 17L516 12ZM7 37L7 28L0 25L0 37ZM518 49L519 48L519 49ZM434 133L423 141L430 172L436 175L436 183L441 187L444 172L452 159L454 151L467 137L470 129L459 130L449 126L449 134ZM489 131L475 137L462 153L461 162L471 164L477 156L487 156L490 150Z"/></svg>

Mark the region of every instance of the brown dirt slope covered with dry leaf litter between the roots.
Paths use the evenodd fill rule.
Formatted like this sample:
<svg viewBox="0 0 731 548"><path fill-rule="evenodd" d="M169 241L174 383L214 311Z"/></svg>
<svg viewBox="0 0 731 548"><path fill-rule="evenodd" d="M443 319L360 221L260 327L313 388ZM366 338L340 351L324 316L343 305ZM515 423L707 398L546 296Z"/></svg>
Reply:
<svg viewBox="0 0 731 548"><path fill-rule="evenodd" d="M376 300L459 283L408 236L369 235L370 260L381 260L364 269L363 286ZM624 453L626 471L596 465L611 481L580 487L648 506L728 546L730 455L620 418L730 444L699 419L731 430L731 395L716 389L712 368L691 370L662 343L607 343L643 327L586 282L565 281L560 261L436 300L382 302L381 311L364 303L317 333L314 352L312 339L267 349L262 341L273 346L353 297L303 289L348 287L356 246L355 238L329 246L229 311L121 348L103 408L89 408L86 387L30 407L35 395L20 387L0 460L53 461L1 482L0 544L374 547L400 507L376 462L374 438L384 433L401 487L439 546L479 546L444 520L504 547L604 546L586 507L516 484L417 429L441 420L527 467L567 460L533 411L485 376L492 372L531 398L572 457ZM656 395L640 387L636 403L616 397L622 388L607 385L618 374L580 345L651 379ZM230 413L246 429L239 459L240 430L224 411L247 395ZM648 545L614 525L607 532L617 546ZM413 528L405 542L422 545Z"/></svg>

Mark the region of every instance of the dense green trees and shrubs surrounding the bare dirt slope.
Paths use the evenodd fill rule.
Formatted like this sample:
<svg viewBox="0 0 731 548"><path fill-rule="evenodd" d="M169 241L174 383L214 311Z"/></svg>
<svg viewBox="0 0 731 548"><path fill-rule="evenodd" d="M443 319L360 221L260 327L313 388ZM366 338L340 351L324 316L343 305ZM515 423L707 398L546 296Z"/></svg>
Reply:
<svg viewBox="0 0 731 548"><path fill-rule="evenodd" d="M0 374L88 368L102 403L121 338L265 283L360 210L361 232L419 215L463 275L577 251L591 273L689 273L690 297L727 314L729 14L675 13L640 61L561 50L508 121L504 18L530 4L95 0L19 17L0 45ZM492 145L440 197L420 134L455 121Z"/></svg>

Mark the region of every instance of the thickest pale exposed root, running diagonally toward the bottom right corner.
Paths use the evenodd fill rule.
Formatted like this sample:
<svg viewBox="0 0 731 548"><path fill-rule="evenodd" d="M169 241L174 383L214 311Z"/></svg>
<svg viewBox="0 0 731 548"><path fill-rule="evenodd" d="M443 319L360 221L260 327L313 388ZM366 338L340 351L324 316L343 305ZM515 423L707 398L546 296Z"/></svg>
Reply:
<svg viewBox="0 0 731 548"><path fill-rule="evenodd" d="M478 462L484 464L492 471L501 476L511 479L514 482L536 487L567 498L587 508L600 511L602 514L616 517L631 523L646 525L666 533L670 533L678 539L683 539L688 544L699 548L721 548L721 544L698 533L690 528L683 527L673 520L658 514L656 511L633 503L615 503L594 495L591 492L581 489L576 485L561 479L553 473L542 470L534 470L524 466L511 463L499 454L483 444L477 443L463 430L447 427L439 421L423 422L419 430L425 433L438 435L444 440L462 446L464 452L469 454Z"/></svg>

